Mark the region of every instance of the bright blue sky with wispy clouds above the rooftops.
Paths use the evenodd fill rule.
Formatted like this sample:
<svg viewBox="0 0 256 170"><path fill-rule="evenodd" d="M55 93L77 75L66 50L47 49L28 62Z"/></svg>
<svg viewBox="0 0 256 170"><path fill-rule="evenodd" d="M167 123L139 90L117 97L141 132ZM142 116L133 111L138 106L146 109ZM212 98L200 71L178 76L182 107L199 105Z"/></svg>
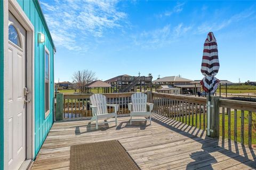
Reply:
<svg viewBox="0 0 256 170"><path fill-rule="evenodd" d="M255 1L41 0L57 53L55 82L89 69L199 80L203 44L217 39L218 79L256 81Z"/></svg>

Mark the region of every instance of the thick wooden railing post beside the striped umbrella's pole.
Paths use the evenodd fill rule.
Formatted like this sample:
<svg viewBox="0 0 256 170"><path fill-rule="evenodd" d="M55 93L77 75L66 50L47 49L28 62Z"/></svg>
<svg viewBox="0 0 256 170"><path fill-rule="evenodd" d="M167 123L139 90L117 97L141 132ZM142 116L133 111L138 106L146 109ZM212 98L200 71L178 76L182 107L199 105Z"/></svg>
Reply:
<svg viewBox="0 0 256 170"><path fill-rule="evenodd" d="M219 96L211 96L211 137L219 137L220 135L220 107Z"/></svg>

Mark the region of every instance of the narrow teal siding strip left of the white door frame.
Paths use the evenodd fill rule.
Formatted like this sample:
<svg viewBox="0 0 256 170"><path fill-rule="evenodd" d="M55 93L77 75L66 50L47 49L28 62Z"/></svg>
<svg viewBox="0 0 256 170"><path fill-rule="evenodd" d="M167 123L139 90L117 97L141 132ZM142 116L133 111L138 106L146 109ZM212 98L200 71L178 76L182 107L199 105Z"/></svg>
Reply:
<svg viewBox="0 0 256 170"><path fill-rule="evenodd" d="M0 1L0 169L4 169L4 7Z"/></svg>

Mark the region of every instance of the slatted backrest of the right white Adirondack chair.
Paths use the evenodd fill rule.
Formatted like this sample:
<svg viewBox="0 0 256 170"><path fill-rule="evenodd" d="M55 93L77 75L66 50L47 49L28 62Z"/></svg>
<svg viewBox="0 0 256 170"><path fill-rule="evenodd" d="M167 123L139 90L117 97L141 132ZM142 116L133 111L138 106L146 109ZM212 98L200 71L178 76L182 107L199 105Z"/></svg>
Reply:
<svg viewBox="0 0 256 170"><path fill-rule="evenodd" d="M147 112L147 95L141 92L132 95L132 112Z"/></svg>

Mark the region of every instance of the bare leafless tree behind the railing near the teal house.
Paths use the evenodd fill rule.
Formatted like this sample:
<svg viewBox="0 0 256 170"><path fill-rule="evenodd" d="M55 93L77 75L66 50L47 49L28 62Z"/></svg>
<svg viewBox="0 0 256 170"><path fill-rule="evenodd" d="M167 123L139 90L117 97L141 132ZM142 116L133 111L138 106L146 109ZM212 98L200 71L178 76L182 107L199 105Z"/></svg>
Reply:
<svg viewBox="0 0 256 170"><path fill-rule="evenodd" d="M91 70L82 70L74 72L72 80L76 84L76 88L79 90L79 93L84 94L86 92L86 84L96 80L95 72Z"/></svg>

